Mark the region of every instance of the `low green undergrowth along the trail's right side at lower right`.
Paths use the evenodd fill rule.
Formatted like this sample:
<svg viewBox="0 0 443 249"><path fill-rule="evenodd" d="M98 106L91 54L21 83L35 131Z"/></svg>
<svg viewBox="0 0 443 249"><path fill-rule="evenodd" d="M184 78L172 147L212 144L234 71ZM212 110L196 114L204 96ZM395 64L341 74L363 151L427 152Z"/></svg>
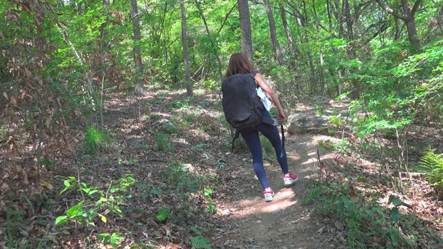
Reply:
<svg viewBox="0 0 443 249"><path fill-rule="evenodd" d="M358 181L367 182L365 178ZM363 201L355 191L352 183L318 183L314 182L309 192L309 198L304 204L315 203L315 211L322 216L332 216L337 219L335 225L343 225L344 234L350 248L366 248L374 242L371 238L377 237L380 241L387 241L387 248L401 248L413 246L415 241L404 236L399 228L405 228L403 223L408 222L399 213L399 207L410 208L395 196L390 196L389 204L394 208L386 209L377 203L378 197L370 202ZM401 223L401 224L397 224ZM413 228L412 228L413 229Z"/></svg>

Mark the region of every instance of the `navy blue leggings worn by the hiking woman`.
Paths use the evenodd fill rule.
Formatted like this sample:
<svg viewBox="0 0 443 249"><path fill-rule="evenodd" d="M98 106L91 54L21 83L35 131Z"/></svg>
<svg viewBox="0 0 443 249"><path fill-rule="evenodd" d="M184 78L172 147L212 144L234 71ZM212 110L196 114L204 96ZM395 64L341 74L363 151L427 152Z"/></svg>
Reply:
<svg viewBox="0 0 443 249"><path fill-rule="evenodd" d="M263 151L262 145L260 144L260 137L258 136L259 131L268 138L269 142L271 142L271 145L274 147L275 155L277 156L278 163L284 174L289 173L288 160L277 127L271 124L262 123L258 127L240 131L246 145L248 145L249 151L251 151L253 168L258 177L258 181L262 184L263 189L266 189L269 187L269 183L268 178L266 177L266 170L263 166Z"/></svg>

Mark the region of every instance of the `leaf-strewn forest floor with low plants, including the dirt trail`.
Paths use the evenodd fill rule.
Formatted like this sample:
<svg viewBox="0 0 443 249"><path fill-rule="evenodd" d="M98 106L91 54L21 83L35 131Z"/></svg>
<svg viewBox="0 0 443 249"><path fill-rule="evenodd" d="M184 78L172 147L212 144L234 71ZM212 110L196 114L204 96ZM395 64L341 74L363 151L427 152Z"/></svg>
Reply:
<svg viewBox="0 0 443 249"><path fill-rule="evenodd" d="M300 103L295 112L313 107ZM320 102L316 107L334 109ZM359 226L372 225L370 215L376 211L364 203L377 192L384 203L377 212L391 210L392 214L388 203L392 195L413 207L401 210L402 215L413 216L401 223L403 233L419 241L410 242L410 248L439 248L443 238L442 203L426 181L405 181L411 191L401 194L381 177L383 168L370 163L370 151L365 151L366 158L332 150L317 154L320 144L339 140L332 136L287 135L289 167L299 176L290 188L283 187L280 167L264 144L266 172L275 191L274 201L264 202L245 146L239 143L233 153L229 151L230 133L217 94L196 91L192 98L171 91L152 91L142 98L111 94L105 128L112 142L96 155L85 153L80 142L75 154L48 160L39 171L32 156L21 163L5 160L0 179L0 246L349 248L347 220L322 211L313 190L314 183L320 182L323 189L338 186L341 196L341 183L356 178L365 184L349 183L346 193L355 203L354 210L366 215L356 220ZM84 130L78 127L76 133ZM417 154L423 153L424 145L439 146L443 141L437 129L413 134L413 140L420 142L415 147L423 147ZM6 151L1 152L6 158ZM62 192L66 182L71 187ZM72 187L75 183L79 184ZM88 194L85 189L96 192ZM69 213L80 206L81 219ZM60 216L67 216L66 223L55 225ZM375 247L387 244L380 234L365 236Z"/></svg>

